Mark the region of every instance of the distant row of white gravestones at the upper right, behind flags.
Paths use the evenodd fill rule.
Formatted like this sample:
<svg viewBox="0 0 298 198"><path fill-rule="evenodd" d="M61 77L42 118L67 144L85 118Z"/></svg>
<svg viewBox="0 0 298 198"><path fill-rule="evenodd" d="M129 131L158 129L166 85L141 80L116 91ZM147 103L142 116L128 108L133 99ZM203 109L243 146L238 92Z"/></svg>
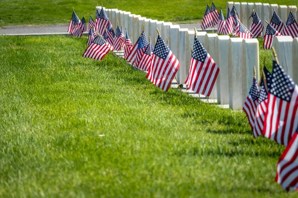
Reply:
<svg viewBox="0 0 298 198"><path fill-rule="evenodd" d="M298 18L298 12L297 12L297 6L296 5L278 5L278 4L269 4L269 3L247 3L247 2L233 2L233 1L228 1L226 3L226 9L231 8L235 6L239 18L241 20L241 23L250 29L250 25L252 23L252 17L249 19L249 17L252 14L253 8L256 9L256 12L258 13L263 25L263 36L265 35L266 32L266 27L267 23L265 22L268 21L270 23L270 20L272 18L272 15L274 13L274 9L277 12L277 14L281 17L282 21L284 23L287 22L288 16L290 14L291 8L292 8L292 13L294 15L295 20Z"/></svg>

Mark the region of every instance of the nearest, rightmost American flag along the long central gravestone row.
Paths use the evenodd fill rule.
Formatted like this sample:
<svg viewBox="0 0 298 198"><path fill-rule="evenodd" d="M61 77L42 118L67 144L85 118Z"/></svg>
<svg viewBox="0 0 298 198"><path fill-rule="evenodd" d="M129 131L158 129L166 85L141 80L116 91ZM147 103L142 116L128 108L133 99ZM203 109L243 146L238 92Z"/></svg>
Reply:
<svg viewBox="0 0 298 198"><path fill-rule="evenodd" d="M185 81L187 88L198 94L210 96L219 71L217 64L195 36L189 73Z"/></svg>

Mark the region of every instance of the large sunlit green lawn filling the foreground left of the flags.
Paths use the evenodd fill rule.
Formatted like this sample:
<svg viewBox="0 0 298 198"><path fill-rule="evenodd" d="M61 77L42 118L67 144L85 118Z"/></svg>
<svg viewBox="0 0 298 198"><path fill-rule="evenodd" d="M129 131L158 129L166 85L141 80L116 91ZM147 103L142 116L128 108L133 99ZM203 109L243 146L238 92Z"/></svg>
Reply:
<svg viewBox="0 0 298 198"><path fill-rule="evenodd" d="M296 197L245 114L167 93L86 37L0 37L0 197Z"/></svg>

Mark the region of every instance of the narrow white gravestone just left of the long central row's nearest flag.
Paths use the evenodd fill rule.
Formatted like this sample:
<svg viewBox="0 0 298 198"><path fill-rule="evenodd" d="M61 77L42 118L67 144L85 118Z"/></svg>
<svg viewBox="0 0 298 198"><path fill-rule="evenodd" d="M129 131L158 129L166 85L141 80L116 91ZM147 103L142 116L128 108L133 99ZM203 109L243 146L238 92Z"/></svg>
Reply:
<svg viewBox="0 0 298 198"><path fill-rule="evenodd" d="M186 32L188 31L187 28L180 28L179 29L179 51L178 51L178 60L180 63L179 70L177 72L177 80L179 84L182 84L186 81L186 77L188 71L186 71L186 63L185 63L185 54L186 54L186 48L185 48L185 38L186 38Z"/></svg>

